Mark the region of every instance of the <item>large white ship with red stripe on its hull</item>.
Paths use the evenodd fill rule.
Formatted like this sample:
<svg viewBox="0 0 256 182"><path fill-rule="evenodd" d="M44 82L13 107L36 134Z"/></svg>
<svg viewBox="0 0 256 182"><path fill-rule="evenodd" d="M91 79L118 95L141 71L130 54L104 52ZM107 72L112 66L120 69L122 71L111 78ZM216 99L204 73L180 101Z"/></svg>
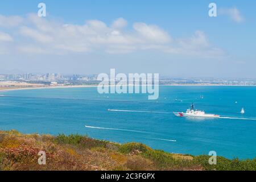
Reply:
<svg viewBox="0 0 256 182"><path fill-rule="evenodd" d="M200 118L220 118L217 114L205 114L204 111L195 110L195 105L191 105L191 109L188 109L185 113L174 112L178 117L200 117Z"/></svg>

